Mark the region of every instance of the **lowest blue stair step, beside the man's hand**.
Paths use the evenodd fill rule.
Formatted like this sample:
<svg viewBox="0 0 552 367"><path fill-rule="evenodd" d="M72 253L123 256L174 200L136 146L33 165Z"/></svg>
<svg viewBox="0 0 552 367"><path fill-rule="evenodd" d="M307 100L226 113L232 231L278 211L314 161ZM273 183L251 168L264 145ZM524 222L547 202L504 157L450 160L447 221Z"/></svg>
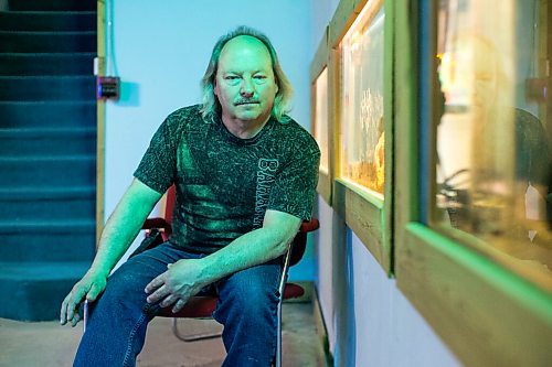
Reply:
<svg viewBox="0 0 552 367"><path fill-rule="evenodd" d="M60 316L61 302L87 271L91 261L0 263L0 317L49 321Z"/></svg>

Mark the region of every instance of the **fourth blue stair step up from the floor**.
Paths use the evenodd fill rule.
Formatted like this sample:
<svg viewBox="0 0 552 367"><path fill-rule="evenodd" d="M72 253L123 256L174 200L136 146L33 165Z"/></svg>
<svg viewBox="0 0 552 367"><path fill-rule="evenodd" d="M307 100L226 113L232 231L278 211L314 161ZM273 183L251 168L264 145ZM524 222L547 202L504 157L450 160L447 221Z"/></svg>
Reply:
<svg viewBox="0 0 552 367"><path fill-rule="evenodd" d="M0 187L86 186L96 180L96 155L0 156Z"/></svg>

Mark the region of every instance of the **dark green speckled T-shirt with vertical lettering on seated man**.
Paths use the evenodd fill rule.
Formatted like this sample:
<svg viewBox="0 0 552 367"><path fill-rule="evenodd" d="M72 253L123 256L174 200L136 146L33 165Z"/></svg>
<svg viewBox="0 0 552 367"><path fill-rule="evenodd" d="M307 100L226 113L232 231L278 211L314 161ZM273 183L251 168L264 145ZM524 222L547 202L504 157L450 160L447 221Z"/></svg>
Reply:
<svg viewBox="0 0 552 367"><path fill-rule="evenodd" d="M240 139L200 105L181 108L159 127L135 176L164 193L176 184L170 241L212 253L263 226L266 209L310 219L320 151L296 121L270 118Z"/></svg>

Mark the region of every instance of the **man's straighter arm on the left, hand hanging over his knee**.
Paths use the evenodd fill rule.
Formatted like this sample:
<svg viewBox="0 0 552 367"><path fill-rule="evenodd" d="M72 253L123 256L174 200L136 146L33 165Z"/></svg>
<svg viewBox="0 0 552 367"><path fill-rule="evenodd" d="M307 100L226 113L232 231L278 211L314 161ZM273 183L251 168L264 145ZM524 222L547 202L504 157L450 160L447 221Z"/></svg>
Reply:
<svg viewBox="0 0 552 367"><path fill-rule="evenodd" d="M78 313L75 313L78 304L84 298L95 301L104 291L109 272L132 244L161 196L137 179L132 181L107 219L91 269L63 300L60 313L62 325L70 321L75 326L79 319Z"/></svg>

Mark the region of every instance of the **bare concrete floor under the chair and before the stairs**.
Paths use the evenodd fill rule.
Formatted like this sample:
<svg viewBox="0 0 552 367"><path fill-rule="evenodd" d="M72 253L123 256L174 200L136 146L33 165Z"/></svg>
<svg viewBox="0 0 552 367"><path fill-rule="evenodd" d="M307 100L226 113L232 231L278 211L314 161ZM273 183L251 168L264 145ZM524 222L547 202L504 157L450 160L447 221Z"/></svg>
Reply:
<svg viewBox="0 0 552 367"><path fill-rule="evenodd" d="M180 320L181 330L216 331L214 321ZM171 319L155 319L138 356L141 367L215 367L224 359L224 346L219 338L183 343L171 331ZM1 367L72 366L82 324L72 328L57 322L26 323L0 319ZM316 333L311 303L285 303L283 306L283 366L327 366L320 339Z"/></svg>

